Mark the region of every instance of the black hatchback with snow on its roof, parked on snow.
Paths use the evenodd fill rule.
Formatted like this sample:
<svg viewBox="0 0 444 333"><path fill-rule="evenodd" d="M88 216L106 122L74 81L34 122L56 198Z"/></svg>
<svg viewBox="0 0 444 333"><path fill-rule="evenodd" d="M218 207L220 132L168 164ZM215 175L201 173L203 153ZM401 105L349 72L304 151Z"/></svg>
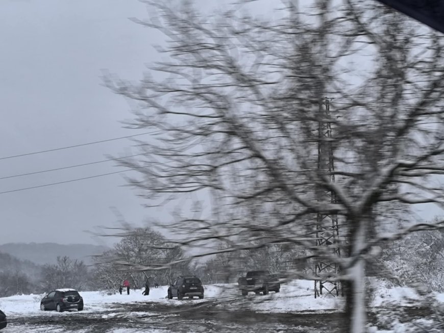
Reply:
<svg viewBox="0 0 444 333"><path fill-rule="evenodd" d="M83 310L83 298L75 289L51 291L40 301L41 311L56 310L57 312L63 312L72 309Z"/></svg>

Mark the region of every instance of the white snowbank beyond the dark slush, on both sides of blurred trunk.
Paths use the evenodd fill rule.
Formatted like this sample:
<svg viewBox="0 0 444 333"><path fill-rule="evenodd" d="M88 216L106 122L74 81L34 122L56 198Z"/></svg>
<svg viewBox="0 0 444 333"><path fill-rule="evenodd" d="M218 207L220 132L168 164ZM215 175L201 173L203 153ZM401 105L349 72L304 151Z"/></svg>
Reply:
<svg viewBox="0 0 444 333"><path fill-rule="evenodd" d="M414 301L421 299L415 291L408 287L387 288L378 283L375 289L372 306L381 307L388 304L411 305ZM152 288L149 296L143 296L142 290L131 290L130 295L119 293L106 295L102 292L80 292L83 296L84 312L107 312L110 304L114 309L118 304L159 302L180 306L183 302L177 299L166 298L167 286ZM0 309L9 317L54 315L54 312L42 312L39 310L40 300L43 295L17 295L0 298ZM218 299L216 305L224 309L241 308L251 309L258 312L300 312L300 311L337 311L343 306L343 298L322 297L314 298L313 281L294 280L281 286L280 293L270 292L269 295L255 295L250 293L246 297L240 295L236 284L218 284L205 286L205 299L194 299L193 302L206 302L208 299ZM444 303L444 294L435 294L439 302ZM148 310L148 309L147 309ZM64 315L64 313L58 314ZM104 314L106 315L106 314Z"/></svg>

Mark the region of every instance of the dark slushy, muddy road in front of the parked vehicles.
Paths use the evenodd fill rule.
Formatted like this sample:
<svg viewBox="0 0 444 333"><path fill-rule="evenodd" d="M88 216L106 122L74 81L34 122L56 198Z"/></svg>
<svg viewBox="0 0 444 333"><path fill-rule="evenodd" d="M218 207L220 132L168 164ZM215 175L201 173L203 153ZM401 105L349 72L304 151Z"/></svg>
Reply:
<svg viewBox="0 0 444 333"><path fill-rule="evenodd" d="M229 310L227 310L229 309ZM87 310L87 309L86 309ZM425 308L379 309L381 314L396 312L400 322L414 318L427 318L431 311ZM393 317L392 317L393 318ZM369 313L369 319L379 329L389 329L378 322L378 316ZM234 310L221 306L217 299L204 302L183 301L159 303L155 301L110 303L101 312L45 313L27 317L14 317L4 333L18 332L242 332L242 333L340 333L343 332L343 314L338 312L258 313ZM3 333L3 332L2 332Z"/></svg>

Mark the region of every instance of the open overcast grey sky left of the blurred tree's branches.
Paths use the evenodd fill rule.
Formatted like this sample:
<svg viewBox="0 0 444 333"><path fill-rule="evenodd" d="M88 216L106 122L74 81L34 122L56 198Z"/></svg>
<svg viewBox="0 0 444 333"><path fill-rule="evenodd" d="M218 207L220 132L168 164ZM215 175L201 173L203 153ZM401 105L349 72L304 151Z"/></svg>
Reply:
<svg viewBox="0 0 444 333"><path fill-rule="evenodd" d="M220 6L198 2L204 9ZM138 133L120 123L131 118L126 101L100 85L101 69L137 80L158 57L152 45L163 37L129 17L146 17L145 6L136 0L0 1L0 177L137 153L131 141L118 140L2 159ZM117 170L108 162L1 179L0 192ZM169 219L171 207L142 208L122 175L0 194L0 243L94 243L84 230L114 225L110 207L136 223Z"/></svg>

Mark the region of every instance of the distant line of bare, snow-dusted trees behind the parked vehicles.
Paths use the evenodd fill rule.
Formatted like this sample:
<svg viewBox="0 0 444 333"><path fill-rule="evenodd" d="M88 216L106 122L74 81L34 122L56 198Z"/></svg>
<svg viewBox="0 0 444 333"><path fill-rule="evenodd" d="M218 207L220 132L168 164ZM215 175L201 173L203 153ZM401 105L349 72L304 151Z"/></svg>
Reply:
<svg viewBox="0 0 444 333"><path fill-rule="evenodd" d="M435 218L435 222L439 220ZM55 264L38 266L0 253L3 268L0 270L0 297L43 293L55 288L115 293L125 279L130 279L133 288L141 288L146 280L151 284L168 285L181 274L198 275L204 284L235 283L246 271L258 269L284 275L296 270L301 273L301 278L313 274L313 263L306 260L310 253L286 245L226 252L224 250L230 250L230 247L219 245L220 252L205 261L195 261L187 259L180 248L172 247L165 237L150 227L129 229L121 236L112 250L95 258L96 263L91 267L68 257L58 257ZM170 261L181 262L169 266ZM145 269L154 264L158 265L157 269ZM387 243L372 266L375 269L368 274L384 279L392 286L410 286L420 292L443 292L444 233L425 230Z"/></svg>

